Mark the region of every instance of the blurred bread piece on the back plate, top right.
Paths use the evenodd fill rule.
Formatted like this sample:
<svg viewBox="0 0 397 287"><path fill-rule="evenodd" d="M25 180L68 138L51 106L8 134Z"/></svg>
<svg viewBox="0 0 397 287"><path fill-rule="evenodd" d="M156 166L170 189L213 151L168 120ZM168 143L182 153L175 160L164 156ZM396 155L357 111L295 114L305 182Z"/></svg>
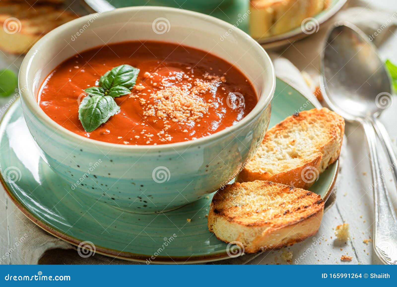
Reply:
<svg viewBox="0 0 397 287"><path fill-rule="evenodd" d="M309 33L315 29L314 33L318 24L310 17L328 8L329 4L330 0L251 0L251 37L261 39L279 35L301 25Z"/></svg>

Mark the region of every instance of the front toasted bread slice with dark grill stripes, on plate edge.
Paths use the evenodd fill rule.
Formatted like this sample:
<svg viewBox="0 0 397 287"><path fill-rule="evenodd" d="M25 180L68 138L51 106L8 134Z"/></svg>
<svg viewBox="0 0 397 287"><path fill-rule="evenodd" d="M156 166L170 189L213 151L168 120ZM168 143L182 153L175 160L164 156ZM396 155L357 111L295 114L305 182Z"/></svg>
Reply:
<svg viewBox="0 0 397 287"><path fill-rule="evenodd" d="M311 191L271 181L233 183L212 198L208 229L245 253L303 241L320 227L324 202Z"/></svg>

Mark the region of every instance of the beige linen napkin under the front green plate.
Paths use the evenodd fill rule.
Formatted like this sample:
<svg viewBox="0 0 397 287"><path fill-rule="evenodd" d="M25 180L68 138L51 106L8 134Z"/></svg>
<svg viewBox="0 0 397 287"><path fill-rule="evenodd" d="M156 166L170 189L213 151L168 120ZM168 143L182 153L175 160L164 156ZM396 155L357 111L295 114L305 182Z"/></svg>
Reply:
<svg viewBox="0 0 397 287"><path fill-rule="evenodd" d="M394 7L397 4L395 1L388 2L389 4L384 3L385 5L382 5L379 1L371 3L370 0L352 0L349 4L350 8L340 12L335 19L352 21L368 35L374 35L378 29L382 29L374 37L374 42L378 43L383 40L386 34L385 31L397 23L397 9ZM333 23L332 20L330 22ZM328 25L324 26L329 25L331 24L328 23ZM312 100L316 107L321 105L312 96L312 91L306 85L299 69L307 70L308 67L311 67L313 70L312 75L318 75L318 54L321 41L324 38L324 32L325 29L322 28L316 34L293 43L287 50L282 52L281 55L290 59L296 67L280 55L271 54L276 75L301 91L309 100ZM344 141L344 144L346 144L346 141ZM342 148L342 152L343 150L344 148ZM341 158L343 158L343 154L341 154ZM338 179L340 180L340 178L339 176ZM329 207L334 200L335 197L331 196L326 206ZM0 202L0 205L2 204ZM8 218L10 238L18 238L20 241L17 246L11 247L12 264L137 264L136 262L118 260L100 254L82 258L77 254L75 247L40 229L27 219L10 200L6 201L5 204L10 209L10 213L8 213L10 214ZM0 208L4 208L4 206L0 206ZM256 256L258 254L244 255L211 264L246 264Z"/></svg>

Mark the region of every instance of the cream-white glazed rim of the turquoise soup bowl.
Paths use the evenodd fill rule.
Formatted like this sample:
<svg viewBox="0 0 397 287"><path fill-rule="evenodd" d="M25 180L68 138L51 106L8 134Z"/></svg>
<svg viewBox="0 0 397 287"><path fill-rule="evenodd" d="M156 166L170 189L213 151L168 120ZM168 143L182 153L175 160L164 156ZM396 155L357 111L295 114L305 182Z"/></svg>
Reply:
<svg viewBox="0 0 397 287"><path fill-rule="evenodd" d="M196 140L192 141L183 141L179 143L169 143L169 144L156 144L156 145L131 145L131 144L116 144L116 143L107 143L103 141L98 141L94 139L89 139L87 137L83 137L81 135L78 135L76 133L73 133L72 131L69 131L65 127L62 127L62 125L59 125L56 123L53 119L51 119L44 111L40 108L39 104L37 103L37 100L35 99L35 96L33 95L33 92L29 89L28 79L27 79L27 71L29 71L31 62L33 60L33 57L36 56L38 50L40 49L41 46L43 46L46 41L51 40L52 38L55 38L57 33L61 31L62 29L66 29L66 27L69 27L70 25L75 25L76 27L79 27L82 23L86 23L87 20L89 19L90 15L86 15L83 17L79 17L77 19L74 19L72 21L69 21L54 30L50 31L46 35L44 35L39 41L37 41L33 47L29 50L29 52L26 54L25 58L23 59L20 71L19 71L19 78L18 78L18 85L19 85L19 91L21 94L21 97L23 98L27 108L31 112L33 112L34 116L37 117L40 121L43 123L46 123L47 125L50 126L50 128L54 129L55 131L59 131L60 133L64 134L65 136L68 137L68 139L73 140L73 141L78 141L79 144L84 144L84 145L90 145L90 144L95 144L97 147L104 147L104 148L111 148L111 150L123 150L123 151L137 151L137 150L146 150L146 151L158 151L158 150L168 150L168 149L173 149L175 150L176 148L188 148L190 146L195 146L195 145L200 145L204 144L207 141L212 141L215 139L218 139L220 137L224 137L225 135L229 133L233 133L233 131L236 131L239 129L241 126L249 123L249 121L252 121L256 116L260 114L270 103L271 99L273 98L274 91L276 89L276 75L274 72L274 66L272 63L272 60L270 60L269 55L266 53L264 48L258 44L254 39L252 39L251 36L249 36L247 33L242 31L241 29L221 20L218 18L215 18L210 15L198 13L198 12L193 12L189 10L183 10L183 9L177 9L177 8L169 8L169 7L160 7L160 6L134 6L134 7L125 7L125 8L118 8L109 12L104 12L102 14L117 14L117 13L125 13L126 11L140 11L140 10L162 10L162 11L170 11L170 12L176 12L176 13L181 13L185 15L190 15L191 17L196 17L198 19L202 19L205 21L208 21L214 25L219 25L221 27L224 27L225 30L228 30L230 28L233 28L233 33L236 33L237 35L241 36L243 39L252 42L252 46L255 46L256 48L260 49L261 52L263 53L263 56L266 60L269 61L270 66L271 66L271 71L269 71L273 77L272 77L272 88L270 89L270 93L266 96L263 93L258 95L258 102L254 106L254 108L245 116L241 121L236 123L235 125L232 125L226 129L223 129L222 131L218 131L212 135L208 135L205 137L201 137ZM94 47L93 47L94 48ZM22 77L21 73L22 71L26 71L25 77ZM244 73L244 71L241 71ZM27 89L21 89L20 87L28 87ZM33 96L32 96L33 95Z"/></svg>

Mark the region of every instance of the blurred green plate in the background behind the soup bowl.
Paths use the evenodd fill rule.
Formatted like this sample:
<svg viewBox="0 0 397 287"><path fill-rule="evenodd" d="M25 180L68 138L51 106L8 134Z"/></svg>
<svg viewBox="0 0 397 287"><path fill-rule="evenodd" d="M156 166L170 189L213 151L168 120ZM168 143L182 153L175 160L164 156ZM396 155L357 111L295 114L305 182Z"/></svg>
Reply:
<svg viewBox="0 0 397 287"><path fill-rule="evenodd" d="M330 6L315 15L306 18L303 25L307 33L303 33L301 27L272 37L256 39L265 47L277 47L288 44L288 40L298 40L318 31L319 25L330 19L338 12L347 0L331 0ZM85 0L85 3L96 12L105 12L114 8L128 6L167 6L181 8L208 14L222 19L241 30L249 33L249 0ZM313 24L313 25L312 25Z"/></svg>

